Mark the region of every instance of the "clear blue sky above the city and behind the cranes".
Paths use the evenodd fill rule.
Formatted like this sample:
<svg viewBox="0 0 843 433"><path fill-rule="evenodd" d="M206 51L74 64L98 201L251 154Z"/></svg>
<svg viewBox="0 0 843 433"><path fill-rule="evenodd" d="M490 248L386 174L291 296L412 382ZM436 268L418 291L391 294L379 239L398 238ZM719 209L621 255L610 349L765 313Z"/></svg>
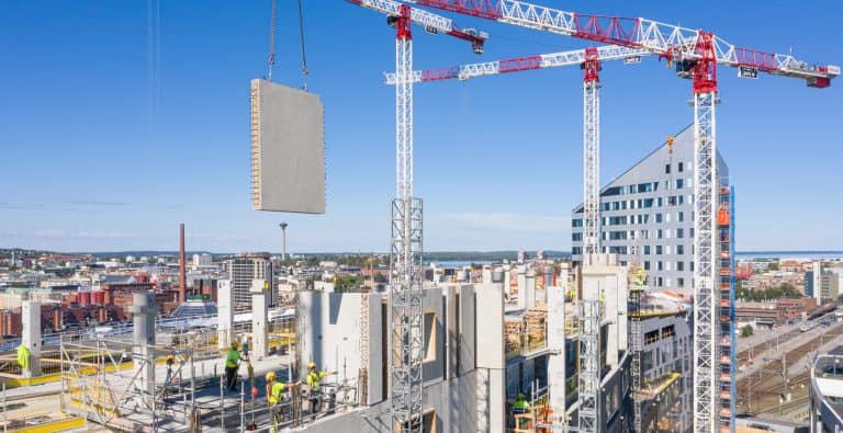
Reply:
<svg viewBox="0 0 843 433"><path fill-rule="evenodd" d="M843 64L839 1L559 1L583 13L705 27L748 47ZM299 86L295 2L280 0L276 77ZM147 2L16 1L0 14L0 247L61 251L385 251L394 189L394 31L379 13L305 0L310 89L326 110L327 213L251 210L248 81L266 75L269 0L165 1L150 110ZM486 54L416 30L429 68L587 46L454 16ZM665 65L606 65L604 183L693 121ZM582 196L578 68L416 88L426 250L570 249ZM739 80L720 69L719 147L737 185L738 249L843 249L843 82Z"/></svg>

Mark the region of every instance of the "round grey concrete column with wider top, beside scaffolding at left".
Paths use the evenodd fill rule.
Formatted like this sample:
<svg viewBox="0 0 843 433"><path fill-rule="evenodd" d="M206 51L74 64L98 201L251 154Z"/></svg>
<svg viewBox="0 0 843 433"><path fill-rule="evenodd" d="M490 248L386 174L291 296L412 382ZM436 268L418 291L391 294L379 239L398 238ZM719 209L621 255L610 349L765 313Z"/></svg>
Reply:
<svg viewBox="0 0 843 433"><path fill-rule="evenodd" d="M135 293L132 297L134 322L134 369L135 387L146 396L155 396L155 296L148 292Z"/></svg>

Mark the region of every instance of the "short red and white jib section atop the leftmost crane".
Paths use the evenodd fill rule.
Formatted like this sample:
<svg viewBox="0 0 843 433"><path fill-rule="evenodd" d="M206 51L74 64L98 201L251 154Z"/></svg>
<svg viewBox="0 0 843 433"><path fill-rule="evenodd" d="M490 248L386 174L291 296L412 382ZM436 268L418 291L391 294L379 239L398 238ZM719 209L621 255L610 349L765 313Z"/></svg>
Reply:
<svg viewBox="0 0 843 433"><path fill-rule="evenodd" d="M357 4L373 11L381 12L392 20L392 25L396 24L394 20L401 16L402 3L395 0L346 0L349 3ZM471 43L471 48L476 54L483 54L483 44L488 34L477 32L474 29L461 29L449 18L437 15L428 11L413 8L409 12L409 19L414 23L425 27L428 33L443 33Z"/></svg>

